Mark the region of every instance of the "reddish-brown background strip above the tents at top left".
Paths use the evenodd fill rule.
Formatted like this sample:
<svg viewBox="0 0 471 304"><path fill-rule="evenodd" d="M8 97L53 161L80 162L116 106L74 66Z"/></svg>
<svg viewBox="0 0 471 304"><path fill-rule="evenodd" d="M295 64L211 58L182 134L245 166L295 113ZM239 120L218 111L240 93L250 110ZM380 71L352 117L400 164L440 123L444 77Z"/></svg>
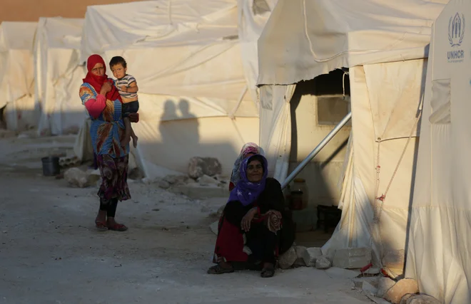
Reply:
<svg viewBox="0 0 471 304"><path fill-rule="evenodd" d="M85 18L86 7L138 0L0 0L1 21L38 21L39 17Z"/></svg>

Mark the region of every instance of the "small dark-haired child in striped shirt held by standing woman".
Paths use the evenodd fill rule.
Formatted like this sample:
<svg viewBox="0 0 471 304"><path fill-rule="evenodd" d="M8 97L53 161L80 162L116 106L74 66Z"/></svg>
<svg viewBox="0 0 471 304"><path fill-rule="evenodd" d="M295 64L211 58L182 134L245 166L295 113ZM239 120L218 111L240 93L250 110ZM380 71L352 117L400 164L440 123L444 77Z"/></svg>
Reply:
<svg viewBox="0 0 471 304"><path fill-rule="evenodd" d="M115 56L111 58L110 61L110 68L111 72L113 72L114 77L116 78L116 88L118 88L119 95L121 95L121 99L123 100L123 120L124 126L126 127L126 131L124 134L124 138L121 141L121 146L126 147L128 142L133 139L133 146L137 147L138 137L133 131L133 127L131 126L131 120L129 120L129 115L131 113L137 113L139 110L139 102L138 102L138 86L136 82L136 78L133 76L128 75L126 71L128 70L128 65L123 57Z"/></svg>

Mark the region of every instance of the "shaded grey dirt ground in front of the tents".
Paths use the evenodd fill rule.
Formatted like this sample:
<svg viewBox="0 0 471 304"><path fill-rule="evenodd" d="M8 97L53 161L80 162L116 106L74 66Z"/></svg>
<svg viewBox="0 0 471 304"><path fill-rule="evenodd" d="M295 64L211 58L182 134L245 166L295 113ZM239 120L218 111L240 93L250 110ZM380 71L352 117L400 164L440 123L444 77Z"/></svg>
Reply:
<svg viewBox="0 0 471 304"><path fill-rule="evenodd" d="M348 279L314 268L268 279L206 274L216 240L209 214L225 198L131 182L117 216L130 229L96 231L96 189L41 176L39 159L73 141L0 140L0 303L371 303Z"/></svg>

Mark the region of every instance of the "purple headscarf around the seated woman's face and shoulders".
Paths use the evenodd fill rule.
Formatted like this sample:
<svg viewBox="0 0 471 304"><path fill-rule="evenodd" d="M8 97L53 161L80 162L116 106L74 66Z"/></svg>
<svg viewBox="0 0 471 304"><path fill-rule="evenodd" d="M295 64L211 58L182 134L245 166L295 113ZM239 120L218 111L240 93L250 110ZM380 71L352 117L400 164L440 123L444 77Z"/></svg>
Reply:
<svg viewBox="0 0 471 304"><path fill-rule="evenodd" d="M263 177L260 182L253 183L249 182L247 178L247 166L250 162L250 159L258 156L263 159ZM257 157L257 158L258 158ZM260 154L255 154L251 157L243 159L240 163L240 181L236 184L236 187L232 189L231 195L229 195L229 201L240 201L240 204L247 206L252 204L258 196L265 190L265 182L268 176L268 162L267 159Z"/></svg>

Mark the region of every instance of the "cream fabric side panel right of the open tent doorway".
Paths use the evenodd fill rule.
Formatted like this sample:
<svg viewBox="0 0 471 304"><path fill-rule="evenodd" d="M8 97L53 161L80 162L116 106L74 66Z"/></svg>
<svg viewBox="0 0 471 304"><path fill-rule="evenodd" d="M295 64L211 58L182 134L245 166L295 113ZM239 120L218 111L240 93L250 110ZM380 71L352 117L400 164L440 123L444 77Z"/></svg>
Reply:
<svg viewBox="0 0 471 304"><path fill-rule="evenodd" d="M372 246L375 263L393 276L402 273L404 261L424 62L350 69L353 139L339 204L343 217L322 248L332 255L336 248ZM376 82L384 85L372 85ZM383 194L383 202L376 199ZM390 261L391 255L399 260Z"/></svg>

